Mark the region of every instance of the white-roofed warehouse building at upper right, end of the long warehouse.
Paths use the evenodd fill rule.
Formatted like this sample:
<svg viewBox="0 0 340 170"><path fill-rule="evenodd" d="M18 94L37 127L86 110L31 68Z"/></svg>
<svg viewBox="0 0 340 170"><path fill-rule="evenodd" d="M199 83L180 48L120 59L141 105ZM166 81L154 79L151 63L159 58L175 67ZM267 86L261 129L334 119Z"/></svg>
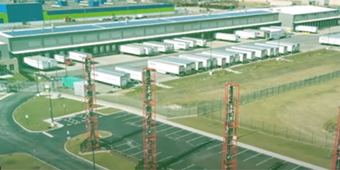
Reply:
<svg viewBox="0 0 340 170"><path fill-rule="evenodd" d="M295 28L298 25L316 26L319 28L339 25L339 10L318 6L290 6L271 8L279 12L282 26Z"/></svg>

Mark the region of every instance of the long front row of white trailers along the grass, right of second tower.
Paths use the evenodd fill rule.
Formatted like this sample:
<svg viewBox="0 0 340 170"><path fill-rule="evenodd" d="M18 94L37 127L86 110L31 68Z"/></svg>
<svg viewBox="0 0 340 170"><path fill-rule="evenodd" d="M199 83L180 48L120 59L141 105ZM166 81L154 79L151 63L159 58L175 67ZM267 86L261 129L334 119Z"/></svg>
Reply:
<svg viewBox="0 0 340 170"><path fill-rule="evenodd" d="M148 60L148 67L161 74L182 77L213 68L226 68L235 64L279 57L299 51L300 44L298 43L267 41L223 49L211 49L200 53L150 59Z"/></svg>

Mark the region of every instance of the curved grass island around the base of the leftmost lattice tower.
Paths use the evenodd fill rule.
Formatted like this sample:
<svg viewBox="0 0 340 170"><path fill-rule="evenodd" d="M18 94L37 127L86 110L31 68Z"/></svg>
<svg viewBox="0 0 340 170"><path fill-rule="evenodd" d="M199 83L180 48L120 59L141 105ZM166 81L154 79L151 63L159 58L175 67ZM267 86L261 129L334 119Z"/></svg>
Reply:
<svg viewBox="0 0 340 170"><path fill-rule="evenodd" d="M99 131L99 134L102 137L107 137L111 135L105 131ZM86 134L82 134L72 138L70 141L66 143L66 149L80 157L83 157L89 161L92 161L92 155L81 155L79 154L80 146L79 144L84 141L86 138ZM96 153L96 162L97 164L106 167L108 169L114 170L133 170L135 168L135 164L127 161L121 157L112 155L110 153Z"/></svg>

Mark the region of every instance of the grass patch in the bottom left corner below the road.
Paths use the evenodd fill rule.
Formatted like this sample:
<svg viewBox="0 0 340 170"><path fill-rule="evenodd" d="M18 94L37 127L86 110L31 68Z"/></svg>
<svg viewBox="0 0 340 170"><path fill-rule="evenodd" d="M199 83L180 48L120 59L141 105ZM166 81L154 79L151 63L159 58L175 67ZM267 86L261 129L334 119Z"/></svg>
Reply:
<svg viewBox="0 0 340 170"><path fill-rule="evenodd" d="M3 170L57 170L56 168L26 154L0 156L0 165Z"/></svg>

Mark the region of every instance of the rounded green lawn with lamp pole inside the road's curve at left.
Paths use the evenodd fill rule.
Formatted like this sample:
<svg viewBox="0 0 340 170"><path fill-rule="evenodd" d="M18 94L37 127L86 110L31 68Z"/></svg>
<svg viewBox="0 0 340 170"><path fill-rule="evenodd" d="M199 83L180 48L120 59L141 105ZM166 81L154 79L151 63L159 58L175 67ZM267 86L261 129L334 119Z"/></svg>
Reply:
<svg viewBox="0 0 340 170"><path fill-rule="evenodd" d="M65 107L64 107L65 106ZM50 118L49 97L34 97L17 108L14 112L15 120L32 131L48 130L50 125L43 120ZM96 106L99 107L99 106ZM52 99L53 116L59 117L84 110L83 102L66 98ZM26 119L28 115L28 119Z"/></svg>

